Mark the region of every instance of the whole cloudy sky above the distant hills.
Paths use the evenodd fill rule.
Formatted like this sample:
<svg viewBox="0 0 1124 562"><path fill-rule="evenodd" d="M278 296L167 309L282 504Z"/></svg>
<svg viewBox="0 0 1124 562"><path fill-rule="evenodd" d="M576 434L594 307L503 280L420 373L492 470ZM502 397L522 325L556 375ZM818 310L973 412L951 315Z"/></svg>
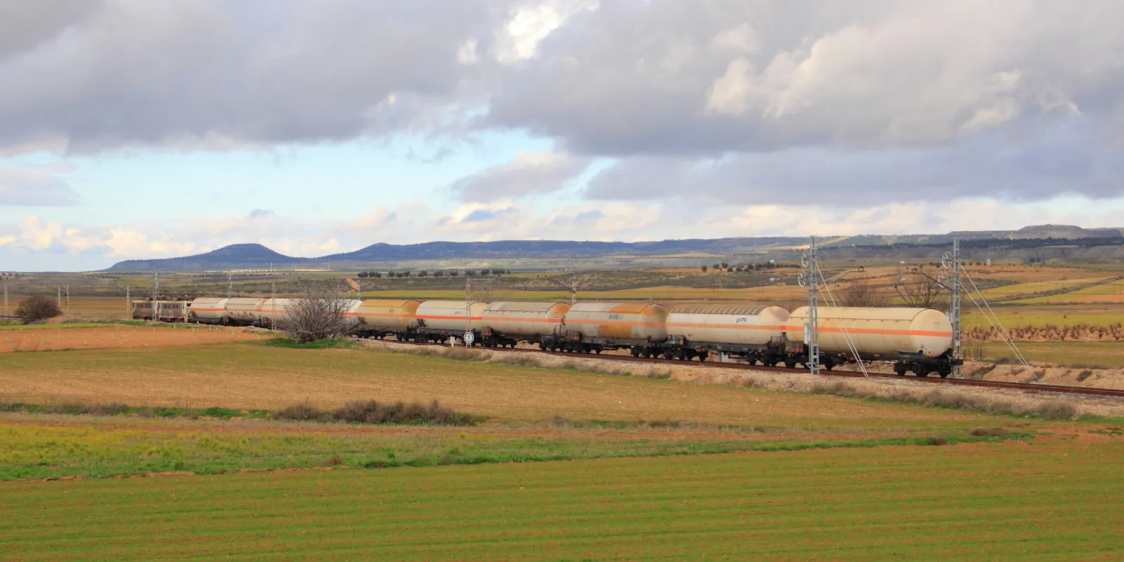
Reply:
<svg viewBox="0 0 1124 562"><path fill-rule="evenodd" d="M0 0L0 271L1124 227L1124 2Z"/></svg>

